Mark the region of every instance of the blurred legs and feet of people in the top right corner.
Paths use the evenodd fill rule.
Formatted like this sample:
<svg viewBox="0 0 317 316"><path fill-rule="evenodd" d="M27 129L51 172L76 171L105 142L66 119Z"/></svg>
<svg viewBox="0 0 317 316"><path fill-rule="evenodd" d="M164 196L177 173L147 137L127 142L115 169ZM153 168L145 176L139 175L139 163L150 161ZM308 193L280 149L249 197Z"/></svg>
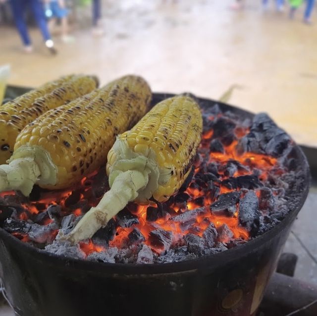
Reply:
<svg viewBox="0 0 317 316"><path fill-rule="evenodd" d="M312 14L315 7L315 0L273 0L275 2L275 7L278 12L282 12L285 10L286 5L289 5L289 18L293 19L297 9L306 5L304 9L303 22L306 24L312 23ZM263 10L266 11L269 6L269 0L262 0ZM235 0L232 5L233 9L242 9L244 7L244 0Z"/></svg>

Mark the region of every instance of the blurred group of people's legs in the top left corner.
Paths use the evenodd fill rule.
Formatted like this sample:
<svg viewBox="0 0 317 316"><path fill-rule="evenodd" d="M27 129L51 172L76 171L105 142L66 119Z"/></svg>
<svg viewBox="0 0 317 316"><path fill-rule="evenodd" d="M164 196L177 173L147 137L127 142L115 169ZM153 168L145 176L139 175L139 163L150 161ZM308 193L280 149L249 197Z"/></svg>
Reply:
<svg viewBox="0 0 317 316"><path fill-rule="evenodd" d="M103 35L101 27L101 0L91 0L92 8L92 34L94 36ZM58 20L60 22L60 35L63 42L71 42L74 37L69 35L68 16L70 10L66 6L65 0L0 0L0 4L7 3L11 9L16 29L21 37L23 49L26 53L33 51L32 42L28 32L26 22L26 11L29 9L33 18L42 33L44 43L52 54L56 54L54 42L50 30Z"/></svg>

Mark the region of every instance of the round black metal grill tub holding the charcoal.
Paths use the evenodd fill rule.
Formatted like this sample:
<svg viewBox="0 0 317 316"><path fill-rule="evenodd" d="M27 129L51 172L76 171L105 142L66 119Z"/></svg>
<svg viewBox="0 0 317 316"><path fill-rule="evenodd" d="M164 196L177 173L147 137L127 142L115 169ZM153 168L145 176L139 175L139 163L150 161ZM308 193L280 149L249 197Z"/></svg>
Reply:
<svg viewBox="0 0 317 316"><path fill-rule="evenodd" d="M171 96L155 93L153 104ZM216 103L245 118L253 114ZM289 190L285 219L263 235L225 252L178 263L124 265L71 260L20 242L0 229L0 277L19 316L249 316L256 315L290 227L309 189L309 166Z"/></svg>

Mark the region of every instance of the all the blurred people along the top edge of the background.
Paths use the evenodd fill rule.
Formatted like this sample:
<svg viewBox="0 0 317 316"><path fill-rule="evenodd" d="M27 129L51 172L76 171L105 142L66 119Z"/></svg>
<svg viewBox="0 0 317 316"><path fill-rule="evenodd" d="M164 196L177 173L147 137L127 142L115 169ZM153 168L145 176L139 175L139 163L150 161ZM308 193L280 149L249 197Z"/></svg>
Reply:
<svg viewBox="0 0 317 316"><path fill-rule="evenodd" d="M119 0L118 0L119 1ZM150 0L149 0L150 1ZM161 3L177 4L181 0L159 0ZM208 1L208 0L207 0ZM246 0L231 0L233 9L243 9ZM256 1L256 0L254 0ZM264 11L269 9L273 4L278 12L285 11L289 7L289 17L293 19L298 8L305 5L303 22L312 23L312 14L315 7L315 0L259 0L262 2ZM75 38L70 34L69 15L74 7L70 7L69 3L84 3L91 6L91 26L92 35L101 36L104 34L101 23L102 0L0 0L0 6L6 5L10 8L11 15L15 22L16 29L23 43L23 49L26 53L33 51L32 42L29 36L26 11L31 11L33 19L40 29L44 43L51 53L55 54L54 42L52 40L51 31L54 29L56 22L59 24L60 38L64 43L73 42ZM228 2L230 3L230 2Z"/></svg>

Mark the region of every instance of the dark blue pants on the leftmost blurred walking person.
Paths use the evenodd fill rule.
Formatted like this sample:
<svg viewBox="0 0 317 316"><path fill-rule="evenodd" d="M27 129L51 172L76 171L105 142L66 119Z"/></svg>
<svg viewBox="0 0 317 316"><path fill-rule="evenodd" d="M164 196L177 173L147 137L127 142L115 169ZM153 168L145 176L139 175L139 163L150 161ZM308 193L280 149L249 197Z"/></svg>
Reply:
<svg viewBox="0 0 317 316"><path fill-rule="evenodd" d="M44 14L44 8L40 0L10 0L10 4L16 27L20 33L24 45L31 44L28 28L24 19L24 14L27 6L31 7L34 18L42 32L44 40L47 41L51 39Z"/></svg>

